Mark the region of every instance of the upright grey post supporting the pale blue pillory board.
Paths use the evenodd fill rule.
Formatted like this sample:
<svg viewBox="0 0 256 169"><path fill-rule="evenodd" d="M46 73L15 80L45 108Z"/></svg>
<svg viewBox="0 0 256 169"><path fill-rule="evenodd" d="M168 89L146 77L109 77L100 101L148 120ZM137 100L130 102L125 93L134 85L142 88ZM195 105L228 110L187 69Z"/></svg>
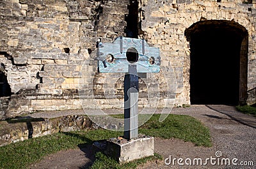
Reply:
<svg viewBox="0 0 256 169"><path fill-rule="evenodd" d="M124 78L124 138L138 138L139 80L136 64L129 64Z"/></svg>

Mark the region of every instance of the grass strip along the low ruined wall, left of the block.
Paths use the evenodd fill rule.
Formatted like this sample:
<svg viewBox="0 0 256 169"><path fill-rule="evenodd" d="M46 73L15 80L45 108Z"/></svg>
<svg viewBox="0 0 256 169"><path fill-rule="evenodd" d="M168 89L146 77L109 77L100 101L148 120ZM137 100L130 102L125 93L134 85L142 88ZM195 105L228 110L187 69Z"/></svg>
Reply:
<svg viewBox="0 0 256 169"><path fill-rule="evenodd" d="M97 129L93 131L76 131L55 133L24 142L11 143L0 147L0 168L28 168L28 165L54 152L76 149L82 143L108 139L122 135L122 132Z"/></svg>

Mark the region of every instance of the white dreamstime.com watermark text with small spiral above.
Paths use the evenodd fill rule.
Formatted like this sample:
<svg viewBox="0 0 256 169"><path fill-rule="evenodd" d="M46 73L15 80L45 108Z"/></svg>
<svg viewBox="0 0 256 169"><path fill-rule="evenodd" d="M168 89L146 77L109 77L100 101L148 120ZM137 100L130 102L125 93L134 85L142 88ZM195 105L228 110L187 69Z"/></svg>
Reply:
<svg viewBox="0 0 256 169"><path fill-rule="evenodd" d="M216 151L215 157L210 158L172 158L170 155L169 158L164 159L165 165L188 165L188 166L205 166L205 165L218 165L218 166L253 166L253 161L239 161L237 158L223 158L221 151Z"/></svg>

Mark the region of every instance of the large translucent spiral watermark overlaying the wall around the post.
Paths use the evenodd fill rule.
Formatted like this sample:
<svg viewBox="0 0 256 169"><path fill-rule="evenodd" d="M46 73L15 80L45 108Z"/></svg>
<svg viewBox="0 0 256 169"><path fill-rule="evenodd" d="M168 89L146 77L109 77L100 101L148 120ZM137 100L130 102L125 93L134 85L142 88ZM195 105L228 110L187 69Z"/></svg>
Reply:
<svg viewBox="0 0 256 169"><path fill-rule="evenodd" d="M139 55L142 54L139 53ZM161 54L161 59L164 58L164 55ZM115 114L124 114L124 99L120 98L120 94L116 94L116 86L124 83L125 73L113 73L111 71L111 69L115 70L117 67L122 68L122 66L127 65L116 64L116 67L109 68L109 73L95 72L90 74L97 67L94 66L93 68L85 61L81 68L81 80L79 81L81 86L78 89L79 99L86 115L101 128L113 131L124 131L124 119L109 115L111 111L112 113L115 111ZM143 65L140 64L140 66ZM143 98L140 94L138 97L140 104L138 127L145 124L156 112L161 114L159 121L164 121L172 111L177 89L176 78L171 65L161 66L159 73L147 73L147 78L140 75L139 73L140 84L143 84L145 89L143 89Z"/></svg>

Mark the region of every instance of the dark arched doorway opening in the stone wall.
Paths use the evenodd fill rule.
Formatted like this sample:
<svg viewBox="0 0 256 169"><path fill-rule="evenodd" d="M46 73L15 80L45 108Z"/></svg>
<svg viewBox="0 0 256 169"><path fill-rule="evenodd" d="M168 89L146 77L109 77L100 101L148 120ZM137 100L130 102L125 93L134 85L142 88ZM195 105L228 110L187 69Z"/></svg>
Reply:
<svg viewBox="0 0 256 169"><path fill-rule="evenodd" d="M246 101L248 32L236 22L203 20L186 29L191 104Z"/></svg>

